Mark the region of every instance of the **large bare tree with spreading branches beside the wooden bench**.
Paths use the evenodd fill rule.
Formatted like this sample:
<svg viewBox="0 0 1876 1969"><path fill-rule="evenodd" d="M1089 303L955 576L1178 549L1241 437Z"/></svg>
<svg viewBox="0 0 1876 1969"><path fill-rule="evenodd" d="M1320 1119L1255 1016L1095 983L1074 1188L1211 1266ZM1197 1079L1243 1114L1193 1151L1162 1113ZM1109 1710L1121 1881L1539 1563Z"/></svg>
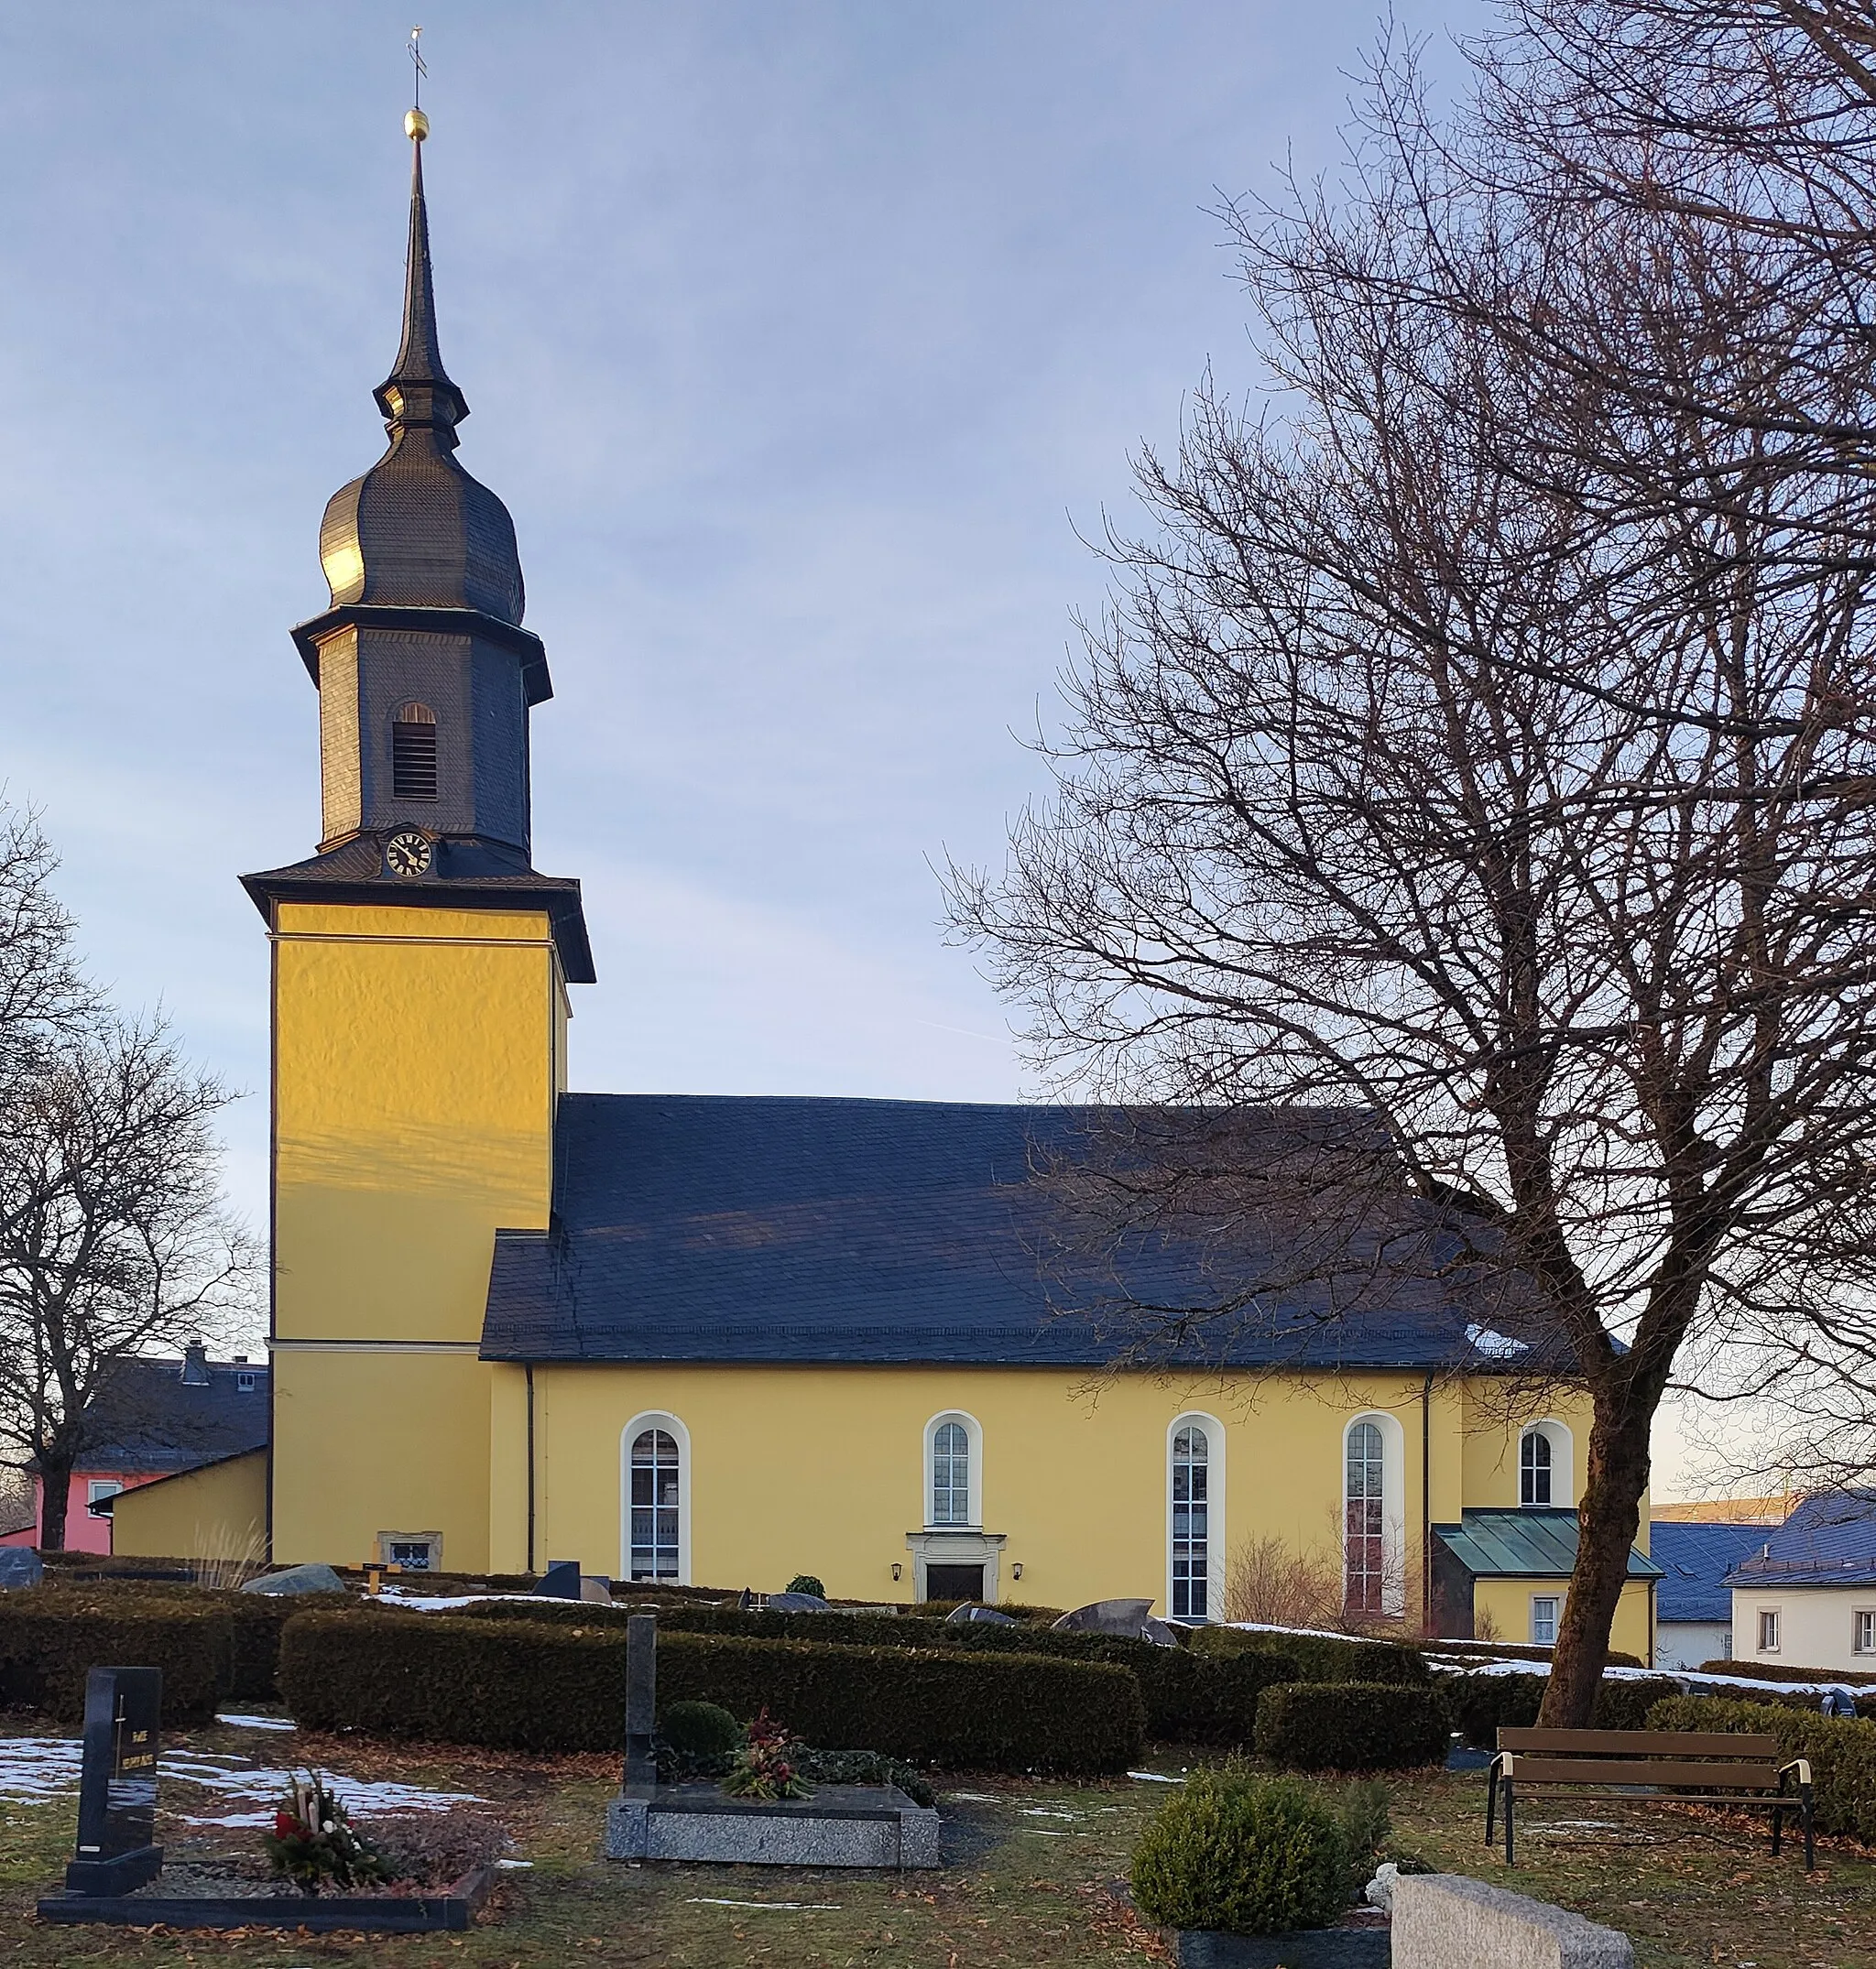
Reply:
<svg viewBox="0 0 1876 1969"><path fill-rule="evenodd" d="M1587 1723L1675 1363L1876 1284L1876 514L1764 441L1868 427L1872 374L1764 360L1750 236L1530 199L1413 100L1343 205L1236 215L1274 408L1142 459L1055 792L951 908L1051 1083L1386 1142L1287 1158L1280 1221L1374 1227L1305 1325L1463 1286L1589 1388L1545 1699ZM1136 1357L1293 1331L1343 1242L1234 1242L1270 1166L1197 1160L1130 1233L1211 1227L1224 1290L1136 1296Z"/></svg>

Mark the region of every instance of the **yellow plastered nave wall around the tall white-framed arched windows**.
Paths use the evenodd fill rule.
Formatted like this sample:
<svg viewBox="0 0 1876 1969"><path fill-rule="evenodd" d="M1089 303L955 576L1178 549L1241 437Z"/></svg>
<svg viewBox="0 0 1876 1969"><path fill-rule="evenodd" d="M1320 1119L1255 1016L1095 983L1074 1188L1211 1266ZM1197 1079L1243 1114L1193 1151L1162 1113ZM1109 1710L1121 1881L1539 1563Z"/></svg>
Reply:
<svg viewBox="0 0 1876 1969"><path fill-rule="evenodd" d="M1398 1422L1402 1563L1417 1573L1419 1402L1419 1376L1220 1386L1037 1368L539 1366L535 1557L626 1569L622 1433L665 1414L689 1439L693 1583L776 1591L809 1571L841 1599L906 1599L906 1536L925 1528L925 1429L955 1410L982 1431L982 1528L1006 1538L1002 1599L1073 1607L1152 1595L1163 1611L1175 1418L1197 1412L1222 1426L1213 1445L1215 1473L1222 1447L1219 1589L1230 1552L1250 1538L1282 1538L1339 1565L1343 1431L1362 1412L1386 1412ZM1439 1439L1441 1410L1457 1418L1457 1402L1435 1392L1435 1483L1451 1491L1461 1459ZM1417 1579L1411 1591L1417 1599Z"/></svg>

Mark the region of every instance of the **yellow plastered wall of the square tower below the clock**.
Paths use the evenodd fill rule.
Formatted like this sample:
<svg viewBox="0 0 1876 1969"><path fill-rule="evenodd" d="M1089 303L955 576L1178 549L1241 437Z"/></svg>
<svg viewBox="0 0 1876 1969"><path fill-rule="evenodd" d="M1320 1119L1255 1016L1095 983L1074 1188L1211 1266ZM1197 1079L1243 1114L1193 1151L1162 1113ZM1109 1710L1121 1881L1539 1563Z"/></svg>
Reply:
<svg viewBox="0 0 1876 1969"><path fill-rule="evenodd" d="M490 1563L496 1370L474 1349L494 1233L547 1223L565 1016L543 912L278 910L278 1561L370 1557L396 1530Z"/></svg>

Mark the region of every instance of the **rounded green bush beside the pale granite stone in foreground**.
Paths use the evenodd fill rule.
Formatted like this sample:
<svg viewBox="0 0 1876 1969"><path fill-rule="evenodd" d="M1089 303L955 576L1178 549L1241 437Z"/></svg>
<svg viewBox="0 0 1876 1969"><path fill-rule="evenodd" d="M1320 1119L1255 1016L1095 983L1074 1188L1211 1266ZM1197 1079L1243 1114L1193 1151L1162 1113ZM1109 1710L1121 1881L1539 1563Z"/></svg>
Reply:
<svg viewBox="0 0 1876 1969"><path fill-rule="evenodd" d="M1197 1772L1134 1849L1134 1904L1167 1928L1276 1936L1348 1904L1343 1831L1295 1778Z"/></svg>

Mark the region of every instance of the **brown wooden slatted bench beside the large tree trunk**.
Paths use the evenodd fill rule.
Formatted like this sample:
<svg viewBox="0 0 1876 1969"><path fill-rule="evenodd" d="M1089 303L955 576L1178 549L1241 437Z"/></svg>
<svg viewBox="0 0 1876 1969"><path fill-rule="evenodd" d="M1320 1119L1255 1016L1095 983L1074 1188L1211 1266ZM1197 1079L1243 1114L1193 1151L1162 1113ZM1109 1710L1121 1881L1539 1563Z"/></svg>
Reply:
<svg viewBox="0 0 1876 1969"><path fill-rule="evenodd" d="M1776 1737L1728 1731L1657 1729L1500 1729L1498 1756L1486 1776L1484 1843L1504 1802L1504 1863L1514 1857L1514 1815L1528 1790L1595 1792L1614 1798L1663 1798L1683 1806L1760 1808L1772 1813L1772 1851L1780 1851L1785 1813L1805 1829L1805 1873L1817 1863L1811 1833L1811 1766L1780 1762Z"/></svg>

